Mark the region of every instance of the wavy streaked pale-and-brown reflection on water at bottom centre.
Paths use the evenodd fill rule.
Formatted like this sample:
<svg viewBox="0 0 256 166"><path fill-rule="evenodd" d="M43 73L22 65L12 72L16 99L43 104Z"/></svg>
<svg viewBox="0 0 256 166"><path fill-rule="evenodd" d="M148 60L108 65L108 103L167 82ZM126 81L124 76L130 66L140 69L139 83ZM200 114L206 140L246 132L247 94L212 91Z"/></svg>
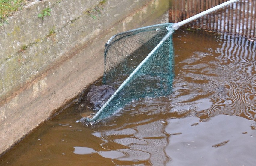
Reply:
<svg viewBox="0 0 256 166"><path fill-rule="evenodd" d="M117 165L126 165L124 161L130 161L130 164L165 165L169 160L165 153L169 137L169 134L163 132L165 122L142 121L136 126L129 125L129 129L120 128L101 133L106 140L101 147L125 154L113 162Z"/></svg>

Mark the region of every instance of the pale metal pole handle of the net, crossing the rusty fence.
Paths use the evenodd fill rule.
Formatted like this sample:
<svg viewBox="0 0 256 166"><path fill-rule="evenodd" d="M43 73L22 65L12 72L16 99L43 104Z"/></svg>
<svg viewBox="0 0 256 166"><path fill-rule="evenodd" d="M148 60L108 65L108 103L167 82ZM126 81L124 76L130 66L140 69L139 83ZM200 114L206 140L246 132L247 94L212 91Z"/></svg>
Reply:
<svg viewBox="0 0 256 166"><path fill-rule="evenodd" d="M196 19L198 19L199 17L202 17L202 16L204 16L204 15L206 15L206 14L209 14L209 13L211 13L211 12L213 12L213 11L216 11L216 10L218 10L218 9L220 9L220 8L223 8L223 7L225 7L225 6L227 6L227 5L230 5L230 4L232 4L232 3L234 3L234 2L237 2L237 1L239 1L239 0L229 0L229 1L227 1L227 2L224 2L224 3L220 4L220 5L217 5L217 6L215 6L215 7L212 7L212 8L210 8L210 9L207 9L206 11L203 11L203 12L201 12L201 13L199 13L199 14L196 14L196 15L194 15L194 16L192 16L192 17L189 17L189 18L187 18L186 20L183 20L183 21L178 22L178 23L174 23L174 24L172 25L172 28L175 29L175 30L178 30L181 26L183 26L183 25L186 24L186 23L189 23L189 22L191 22L191 21L193 21L193 20L196 20Z"/></svg>

